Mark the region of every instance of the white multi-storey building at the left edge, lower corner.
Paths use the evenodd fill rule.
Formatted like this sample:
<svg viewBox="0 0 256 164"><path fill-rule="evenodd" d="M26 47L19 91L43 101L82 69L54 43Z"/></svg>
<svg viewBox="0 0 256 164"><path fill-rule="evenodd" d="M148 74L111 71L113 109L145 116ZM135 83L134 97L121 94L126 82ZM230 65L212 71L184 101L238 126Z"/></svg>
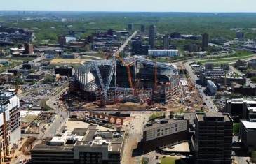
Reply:
<svg viewBox="0 0 256 164"><path fill-rule="evenodd" d="M0 89L0 164L5 157L11 156L12 147L20 140L20 100L16 89Z"/></svg>

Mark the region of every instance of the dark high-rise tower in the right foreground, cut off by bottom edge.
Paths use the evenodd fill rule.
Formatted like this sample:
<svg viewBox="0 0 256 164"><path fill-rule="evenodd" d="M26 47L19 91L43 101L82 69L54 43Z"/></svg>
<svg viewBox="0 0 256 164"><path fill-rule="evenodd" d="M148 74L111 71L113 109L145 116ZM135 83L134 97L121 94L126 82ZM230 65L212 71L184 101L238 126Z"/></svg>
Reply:
<svg viewBox="0 0 256 164"><path fill-rule="evenodd" d="M197 164L231 164L233 119L227 113L196 113Z"/></svg>

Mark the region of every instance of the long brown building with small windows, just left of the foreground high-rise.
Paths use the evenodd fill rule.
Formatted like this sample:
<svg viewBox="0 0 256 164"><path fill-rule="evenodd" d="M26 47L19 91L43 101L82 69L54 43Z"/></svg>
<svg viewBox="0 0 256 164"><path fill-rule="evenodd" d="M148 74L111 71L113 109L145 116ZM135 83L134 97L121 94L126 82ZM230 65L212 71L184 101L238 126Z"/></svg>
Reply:
<svg viewBox="0 0 256 164"><path fill-rule="evenodd" d="M158 123L147 123L143 128L142 149L146 153L166 144L186 140L188 130L188 119L161 119Z"/></svg>

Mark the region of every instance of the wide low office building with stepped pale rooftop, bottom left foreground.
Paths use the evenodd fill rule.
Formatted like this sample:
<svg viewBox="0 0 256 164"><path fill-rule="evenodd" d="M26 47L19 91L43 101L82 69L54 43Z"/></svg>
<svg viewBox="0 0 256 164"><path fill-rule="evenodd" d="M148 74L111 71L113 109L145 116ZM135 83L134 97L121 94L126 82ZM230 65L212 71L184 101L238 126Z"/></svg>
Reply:
<svg viewBox="0 0 256 164"><path fill-rule="evenodd" d="M123 131L97 131L96 126L66 131L31 150L32 163L119 164L125 144Z"/></svg>

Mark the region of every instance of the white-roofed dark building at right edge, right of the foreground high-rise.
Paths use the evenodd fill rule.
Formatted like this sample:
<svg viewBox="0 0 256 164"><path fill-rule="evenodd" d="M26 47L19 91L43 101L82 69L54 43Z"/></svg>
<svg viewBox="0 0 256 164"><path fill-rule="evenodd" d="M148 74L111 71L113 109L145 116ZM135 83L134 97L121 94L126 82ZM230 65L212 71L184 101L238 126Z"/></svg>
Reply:
<svg viewBox="0 0 256 164"><path fill-rule="evenodd" d="M256 109L253 109L253 112L256 113ZM256 117L250 120L241 120L239 137L241 142L245 147L248 148L249 152L252 152L256 149Z"/></svg>

